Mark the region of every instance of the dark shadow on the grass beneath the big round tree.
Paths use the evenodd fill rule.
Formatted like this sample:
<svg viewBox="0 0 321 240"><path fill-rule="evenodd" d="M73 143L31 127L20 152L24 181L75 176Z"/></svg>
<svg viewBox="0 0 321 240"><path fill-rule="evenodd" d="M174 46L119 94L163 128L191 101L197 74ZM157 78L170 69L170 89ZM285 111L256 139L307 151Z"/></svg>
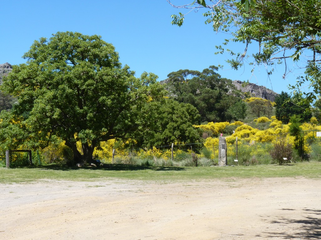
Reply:
<svg viewBox="0 0 321 240"><path fill-rule="evenodd" d="M88 169L88 170L104 170L104 171L141 171L141 170L152 170L152 171L186 171L185 167L173 167L173 166L139 166L130 164L103 164L100 167L75 167L66 166L64 164L51 164L44 166L27 166L24 168L37 168L44 170L60 170L60 171L71 171L77 169Z"/></svg>

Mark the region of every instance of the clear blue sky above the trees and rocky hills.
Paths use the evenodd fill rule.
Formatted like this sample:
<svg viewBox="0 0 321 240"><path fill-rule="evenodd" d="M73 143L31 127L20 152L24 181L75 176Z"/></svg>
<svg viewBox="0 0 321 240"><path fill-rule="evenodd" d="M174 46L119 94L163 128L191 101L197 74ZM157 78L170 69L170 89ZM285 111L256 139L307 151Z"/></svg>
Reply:
<svg viewBox="0 0 321 240"><path fill-rule="evenodd" d="M250 79L280 93L289 92L287 86L303 73L293 71L283 79L284 68L278 66L268 79L264 67L256 68L253 76L248 66L238 71L230 69L225 63L228 55L214 54L215 45L229 36L216 34L210 25L205 25L201 13L190 13L180 28L172 26L170 16L179 10L166 0L11 0L3 1L1 9L0 64L23 63L22 55L34 40L50 38L58 31L73 31L102 36L115 46L120 62L136 71L136 76L146 71L164 80L170 72L179 69L202 71L220 64L225 66L219 70L222 77ZM241 44L229 47L244 48Z"/></svg>

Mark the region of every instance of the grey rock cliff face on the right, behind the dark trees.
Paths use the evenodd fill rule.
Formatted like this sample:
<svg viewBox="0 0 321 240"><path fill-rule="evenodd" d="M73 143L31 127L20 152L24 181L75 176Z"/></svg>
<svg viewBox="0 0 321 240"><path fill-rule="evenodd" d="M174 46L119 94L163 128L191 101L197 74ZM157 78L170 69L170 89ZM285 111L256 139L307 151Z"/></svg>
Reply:
<svg viewBox="0 0 321 240"><path fill-rule="evenodd" d="M271 102L274 102L275 97L279 95L276 92L273 92L271 89L268 89L264 86L259 86L253 83L249 83L246 86L242 86L243 82L239 80L233 81L233 84L236 86L236 88L244 93L249 93L251 97L257 97L257 98L263 98L266 100L270 100Z"/></svg>

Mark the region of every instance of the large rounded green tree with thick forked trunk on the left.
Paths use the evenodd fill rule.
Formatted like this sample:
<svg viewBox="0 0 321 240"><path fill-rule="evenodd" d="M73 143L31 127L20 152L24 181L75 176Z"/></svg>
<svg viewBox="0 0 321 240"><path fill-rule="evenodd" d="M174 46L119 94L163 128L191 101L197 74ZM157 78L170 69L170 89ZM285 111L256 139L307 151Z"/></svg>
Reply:
<svg viewBox="0 0 321 240"><path fill-rule="evenodd" d="M57 32L35 41L23 58L1 86L18 97L12 118L23 116L24 131L40 147L65 140L78 162L90 162L100 141L124 139L146 124L141 110L163 97L156 75L136 78L97 35Z"/></svg>

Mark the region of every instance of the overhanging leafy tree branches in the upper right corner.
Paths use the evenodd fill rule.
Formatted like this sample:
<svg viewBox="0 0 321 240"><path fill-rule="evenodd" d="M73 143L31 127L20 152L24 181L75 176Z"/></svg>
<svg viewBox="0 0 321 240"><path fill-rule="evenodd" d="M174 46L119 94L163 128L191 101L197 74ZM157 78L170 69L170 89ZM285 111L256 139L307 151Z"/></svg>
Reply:
<svg viewBox="0 0 321 240"><path fill-rule="evenodd" d="M271 66L268 70L271 74L274 64L284 62L287 66L289 60L300 61L305 74L290 88L301 91L308 84L311 87L302 92L301 101L318 101L321 92L321 1L197 0L179 4L172 5L185 8L186 12L173 15L173 24L181 26L188 12L203 8L206 23L212 24L217 32L231 33L232 38L217 48L218 53L231 54L228 63L233 68L239 68L247 59L246 62L253 66ZM229 50L225 47L229 42L244 44L243 51ZM250 45L254 45L254 51L256 49L253 54L247 53ZM285 67L283 77L289 71L291 68Z"/></svg>

